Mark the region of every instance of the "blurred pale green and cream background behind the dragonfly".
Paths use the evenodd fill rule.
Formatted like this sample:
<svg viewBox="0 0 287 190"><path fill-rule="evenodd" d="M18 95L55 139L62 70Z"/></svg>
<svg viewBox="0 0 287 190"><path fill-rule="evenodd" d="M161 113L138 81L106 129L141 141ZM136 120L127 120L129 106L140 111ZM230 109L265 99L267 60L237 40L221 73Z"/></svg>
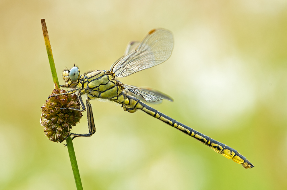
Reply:
<svg viewBox="0 0 287 190"><path fill-rule="evenodd" d="M75 189L66 147L45 138L53 90L40 19L63 69L108 70L153 28L163 64L119 78L172 98L151 105L238 150L244 169L143 112L91 101L97 132L73 141L84 189L286 189L287 1L0 1L0 189ZM87 120L73 132L87 132Z"/></svg>

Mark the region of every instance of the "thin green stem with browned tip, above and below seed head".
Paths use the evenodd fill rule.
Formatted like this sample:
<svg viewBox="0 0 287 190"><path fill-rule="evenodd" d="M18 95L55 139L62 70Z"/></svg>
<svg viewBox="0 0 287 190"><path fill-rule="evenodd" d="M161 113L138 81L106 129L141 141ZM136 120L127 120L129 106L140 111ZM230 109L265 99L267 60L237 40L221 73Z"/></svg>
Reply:
<svg viewBox="0 0 287 190"><path fill-rule="evenodd" d="M43 30L45 45L46 45L47 54L48 54L48 58L49 58L51 73L52 73L52 77L53 77L53 82L55 84L55 88L60 89L45 19L41 19L41 23L42 23L42 30ZM81 177L80 177L79 168L77 165L76 155L75 155L74 146L73 146L71 136L69 136L66 139L66 142L67 142L69 157L70 157L70 161L71 161L71 166L72 166L77 190L83 190L83 186L82 186L82 182L81 182Z"/></svg>

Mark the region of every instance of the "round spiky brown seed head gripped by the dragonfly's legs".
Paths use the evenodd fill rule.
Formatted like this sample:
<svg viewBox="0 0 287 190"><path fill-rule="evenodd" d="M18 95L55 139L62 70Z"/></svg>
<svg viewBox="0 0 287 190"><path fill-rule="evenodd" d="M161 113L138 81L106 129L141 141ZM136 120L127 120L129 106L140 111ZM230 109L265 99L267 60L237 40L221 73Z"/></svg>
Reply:
<svg viewBox="0 0 287 190"><path fill-rule="evenodd" d="M65 93L65 90L54 89L52 95ZM60 109L60 108L77 108L80 109L76 94L53 96L46 100L46 104L42 107L42 115L40 119L41 125L44 127L44 132L51 141L63 142L69 135L69 129L79 122L83 116L81 112Z"/></svg>

